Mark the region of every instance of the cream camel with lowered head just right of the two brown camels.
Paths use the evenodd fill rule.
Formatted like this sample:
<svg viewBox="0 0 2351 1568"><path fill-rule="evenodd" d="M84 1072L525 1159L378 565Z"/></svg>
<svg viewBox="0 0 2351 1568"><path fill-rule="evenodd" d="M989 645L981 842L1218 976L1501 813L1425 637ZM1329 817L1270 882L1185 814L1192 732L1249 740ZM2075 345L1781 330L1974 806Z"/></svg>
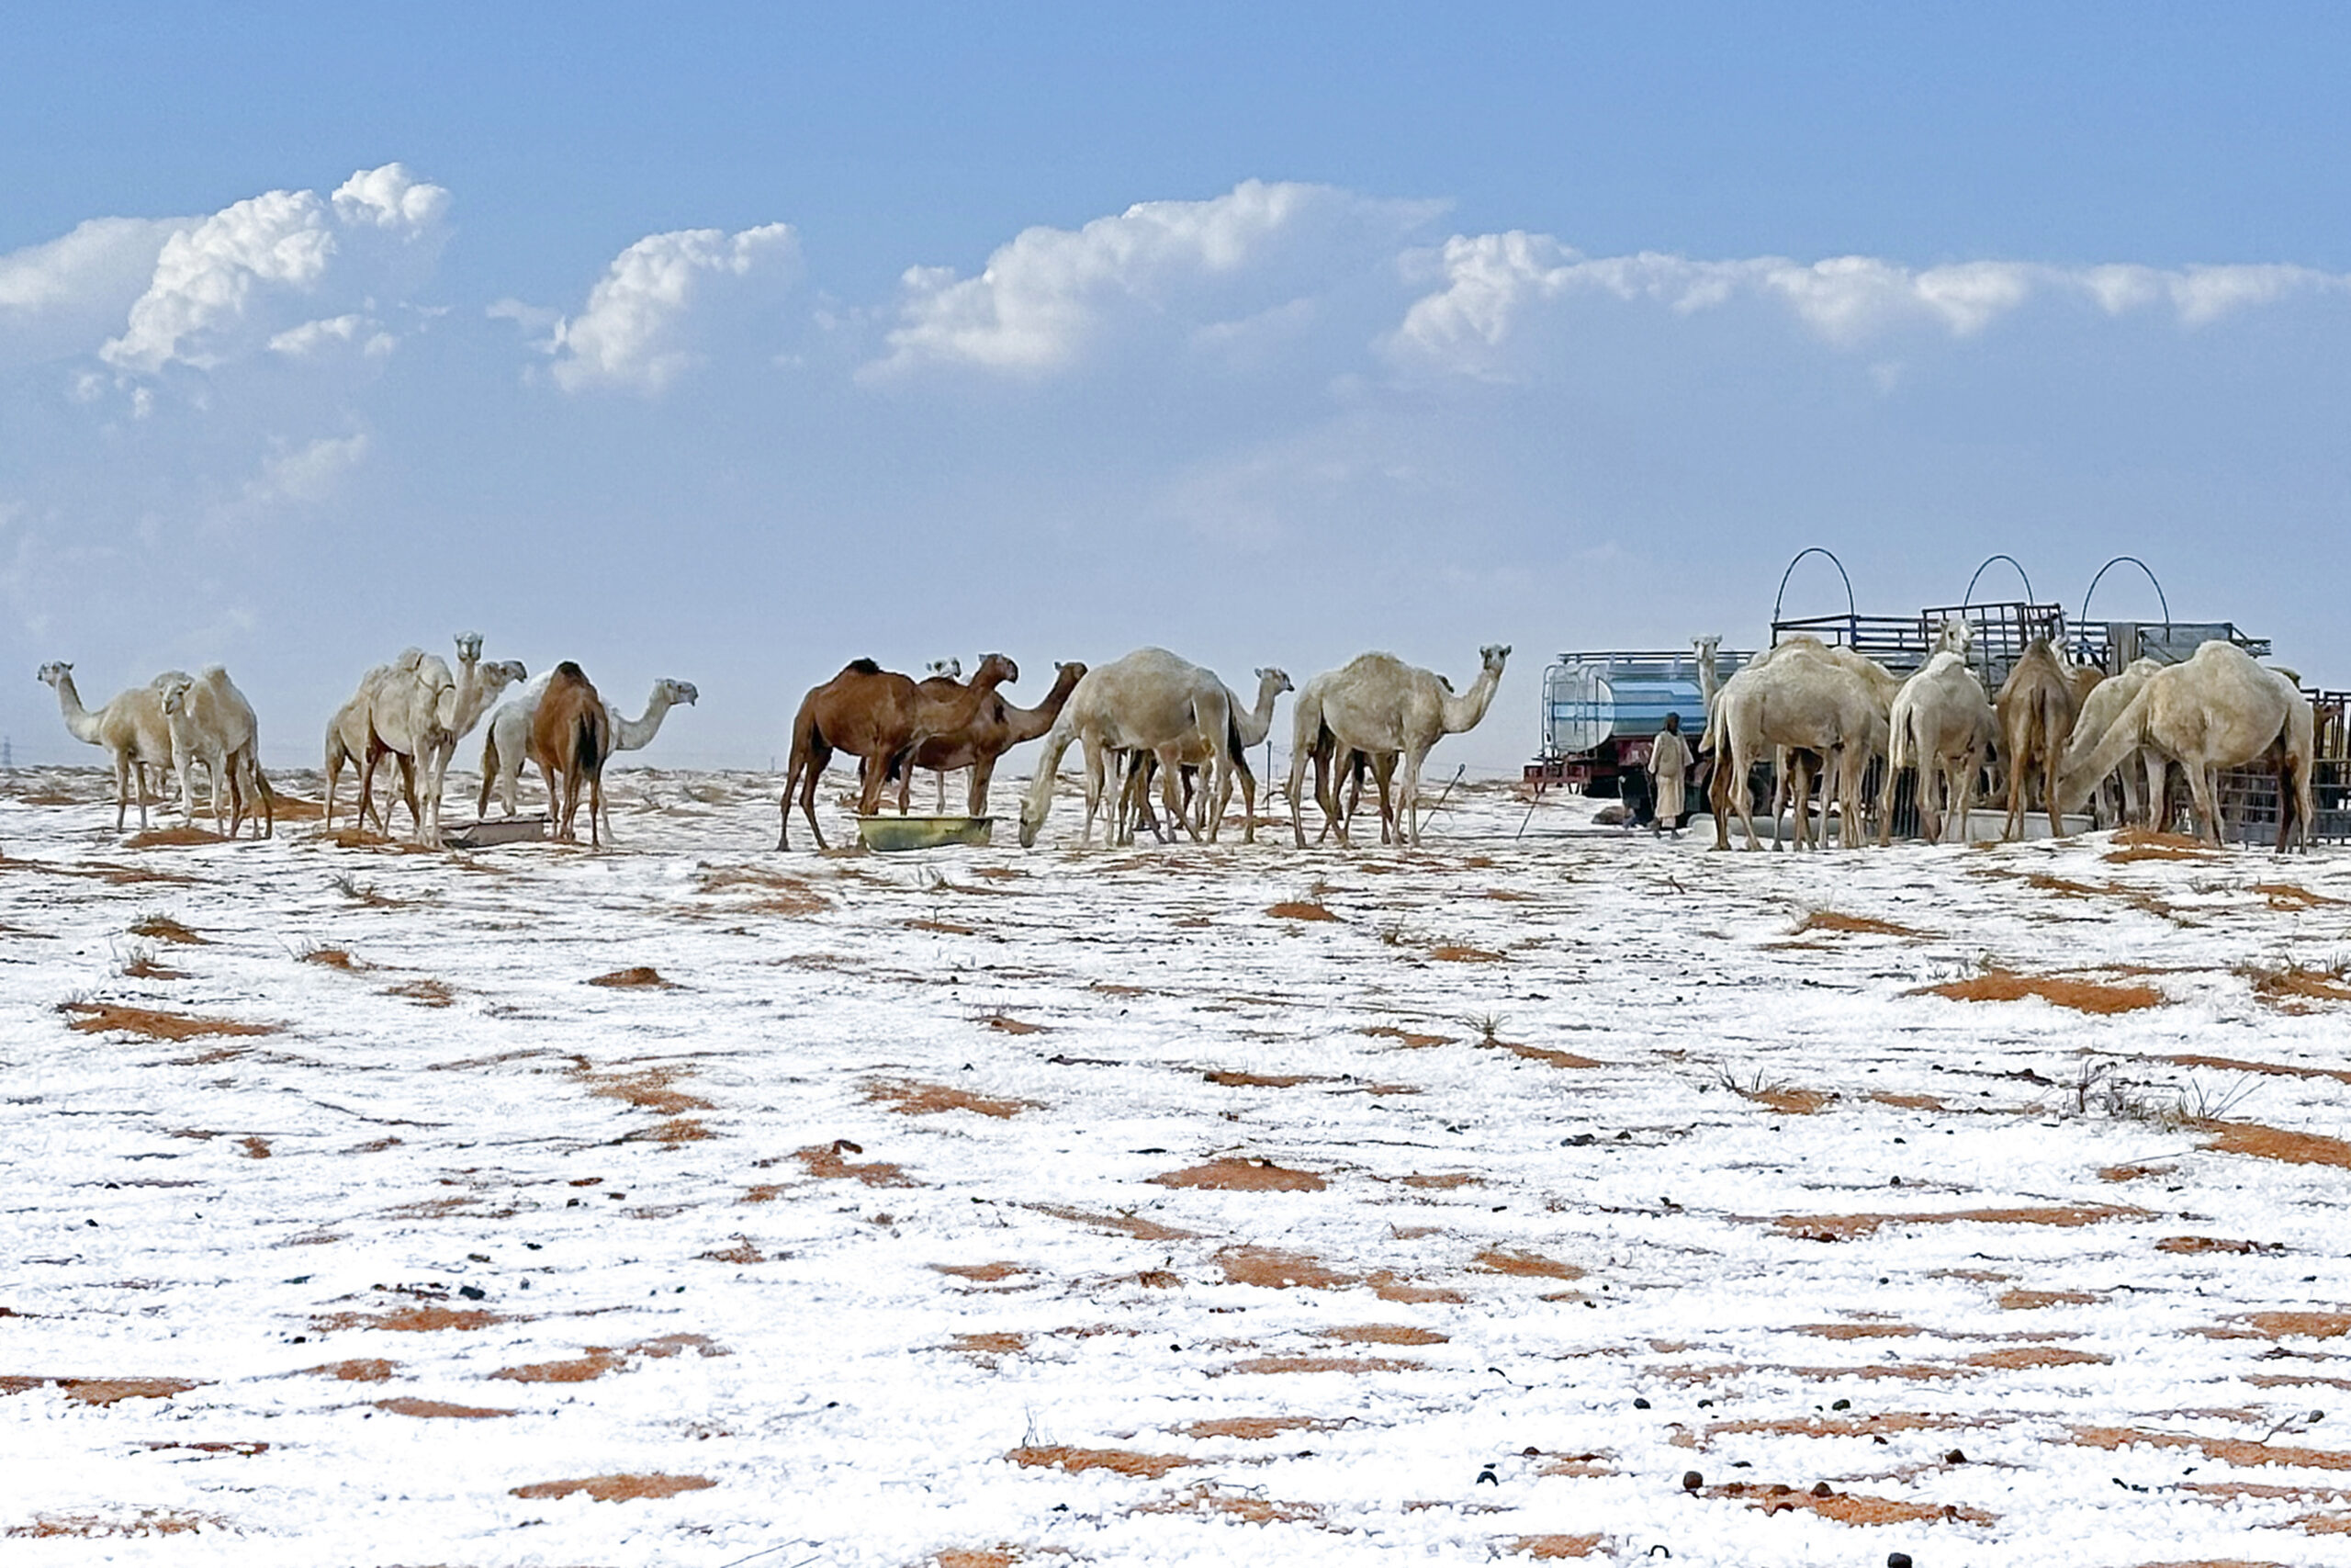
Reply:
<svg viewBox="0 0 2351 1568"><path fill-rule="evenodd" d="M1037 844L1046 813L1053 809L1053 778L1060 759L1077 741L1086 743L1086 823L1079 844L1093 839L1093 816L1103 806L1105 773L1117 752L1154 752L1166 769L1166 788L1173 797L1176 769L1183 755L1197 750L1208 769L1201 776L1204 790L1230 788L1232 755L1232 693L1213 670L1204 670L1166 649L1136 649L1098 670L1089 670L1060 717L1044 736L1044 755L1030 778L1027 797L1020 802L1020 849ZM1173 799L1171 799L1173 804ZM1112 818L1107 835L1117 837L1117 792L1110 797ZM1215 839L1220 818L1208 820L1208 839Z"/></svg>

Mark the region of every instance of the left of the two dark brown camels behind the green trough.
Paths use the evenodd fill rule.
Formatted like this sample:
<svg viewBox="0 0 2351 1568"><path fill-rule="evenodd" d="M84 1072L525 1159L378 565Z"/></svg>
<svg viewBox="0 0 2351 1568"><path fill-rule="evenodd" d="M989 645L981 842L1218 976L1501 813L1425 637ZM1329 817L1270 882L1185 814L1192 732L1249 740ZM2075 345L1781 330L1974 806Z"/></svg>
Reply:
<svg viewBox="0 0 2351 1568"><path fill-rule="evenodd" d="M792 762L783 776L783 825L776 849L790 849L795 792L816 846L825 849L825 830L816 825L816 780L832 762L832 752L849 752L863 762L858 816L872 816L882 809L882 785L907 766L924 741L964 729L997 686L1016 679L1020 665L1004 654L990 654L971 684L957 684L955 691L924 693L910 677L884 670L870 658L856 658L823 686L811 686L792 715ZM905 811L903 792L898 809Z"/></svg>

